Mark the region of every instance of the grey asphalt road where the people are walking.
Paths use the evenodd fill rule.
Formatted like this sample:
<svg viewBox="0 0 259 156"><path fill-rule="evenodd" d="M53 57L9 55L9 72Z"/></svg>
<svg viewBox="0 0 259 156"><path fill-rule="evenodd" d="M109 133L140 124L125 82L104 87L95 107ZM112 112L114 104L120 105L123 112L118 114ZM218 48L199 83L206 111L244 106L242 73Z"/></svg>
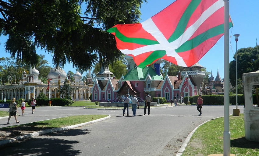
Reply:
<svg viewBox="0 0 259 156"><path fill-rule="evenodd" d="M230 106L229 113L232 114ZM239 106L240 113L243 107ZM1 109L3 110L3 109ZM196 106L156 107L150 115L122 116L122 110L93 110L83 107L38 107L34 114L18 116L20 124L82 114L107 114L111 118L68 131L47 134L0 148L2 155L86 155L86 156L168 156L175 155L199 124L224 116L224 106L204 105L202 116ZM130 110L130 114L132 111ZM5 127L7 119L0 120ZM10 123L14 124L12 118ZM222 132L223 133L223 132ZM178 143L177 143L178 142ZM11 152L12 151L12 152Z"/></svg>

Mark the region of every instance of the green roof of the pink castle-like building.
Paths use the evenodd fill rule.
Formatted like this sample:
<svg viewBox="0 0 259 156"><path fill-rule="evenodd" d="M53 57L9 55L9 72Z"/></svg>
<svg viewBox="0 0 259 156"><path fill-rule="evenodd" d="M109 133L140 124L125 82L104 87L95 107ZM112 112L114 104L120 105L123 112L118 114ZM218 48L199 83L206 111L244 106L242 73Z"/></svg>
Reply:
<svg viewBox="0 0 259 156"><path fill-rule="evenodd" d="M136 67L134 69L131 69L125 76L124 79L125 81L130 81L130 80L145 80L147 77L147 74L151 76L152 80L164 80L162 76L157 75L157 73L154 71L152 67L145 67L145 68L140 68Z"/></svg>

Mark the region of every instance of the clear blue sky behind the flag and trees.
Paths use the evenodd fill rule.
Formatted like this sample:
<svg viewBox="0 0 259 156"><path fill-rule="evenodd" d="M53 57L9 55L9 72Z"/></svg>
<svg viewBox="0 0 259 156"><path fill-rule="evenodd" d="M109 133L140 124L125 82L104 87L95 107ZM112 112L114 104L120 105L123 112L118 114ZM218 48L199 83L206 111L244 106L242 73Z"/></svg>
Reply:
<svg viewBox="0 0 259 156"><path fill-rule="evenodd" d="M157 14L168 5L175 2L175 0L147 0L147 3L143 3L140 8L141 16L140 22L144 22L151 16ZM234 34L240 34L237 42L237 49L254 47L256 45L256 39L259 40L259 1L258 0L229 0L229 14L231 16L233 27L229 29L230 43L229 46L229 62L233 60L233 56L236 53L236 42ZM0 40L0 57L10 57L9 53L5 53L4 42L7 39L5 36L1 36ZM45 53L44 50L37 49L37 54L44 54L45 58L51 67L54 67L52 63L52 56ZM218 42L213 46L204 56L199 60L201 66L205 67L208 72L212 71L214 79L216 78L217 71L220 77L224 78L224 36L222 36ZM72 67L72 64L66 64L63 68L67 73L71 70L76 73L76 69ZM85 73L84 73L85 75Z"/></svg>

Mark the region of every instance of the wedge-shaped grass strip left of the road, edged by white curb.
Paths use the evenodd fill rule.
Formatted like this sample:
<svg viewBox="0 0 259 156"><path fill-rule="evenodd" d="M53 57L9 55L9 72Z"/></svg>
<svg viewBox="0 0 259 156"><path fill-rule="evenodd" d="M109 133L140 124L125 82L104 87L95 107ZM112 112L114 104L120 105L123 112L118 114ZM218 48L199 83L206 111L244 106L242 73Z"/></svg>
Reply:
<svg viewBox="0 0 259 156"><path fill-rule="evenodd" d="M77 115L69 117L61 117L50 120L37 121L29 124L21 124L9 127L2 127L0 131L41 131L44 129L66 127L75 124L81 124L92 120L108 117L108 115Z"/></svg>

